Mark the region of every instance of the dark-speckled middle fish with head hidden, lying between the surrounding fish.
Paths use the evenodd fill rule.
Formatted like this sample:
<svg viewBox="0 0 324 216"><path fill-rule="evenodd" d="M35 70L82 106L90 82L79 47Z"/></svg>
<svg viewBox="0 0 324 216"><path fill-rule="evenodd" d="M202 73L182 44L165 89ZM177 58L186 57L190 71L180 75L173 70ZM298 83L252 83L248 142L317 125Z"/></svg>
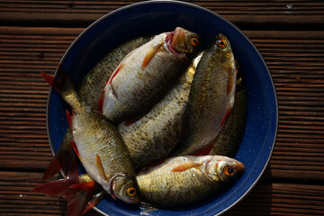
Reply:
<svg viewBox="0 0 324 216"><path fill-rule="evenodd" d="M166 158L178 144L184 108L200 58L202 52L193 58L175 86L146 115L138 121L123 121L119 124L117 130L136 168Z"/></svg>

